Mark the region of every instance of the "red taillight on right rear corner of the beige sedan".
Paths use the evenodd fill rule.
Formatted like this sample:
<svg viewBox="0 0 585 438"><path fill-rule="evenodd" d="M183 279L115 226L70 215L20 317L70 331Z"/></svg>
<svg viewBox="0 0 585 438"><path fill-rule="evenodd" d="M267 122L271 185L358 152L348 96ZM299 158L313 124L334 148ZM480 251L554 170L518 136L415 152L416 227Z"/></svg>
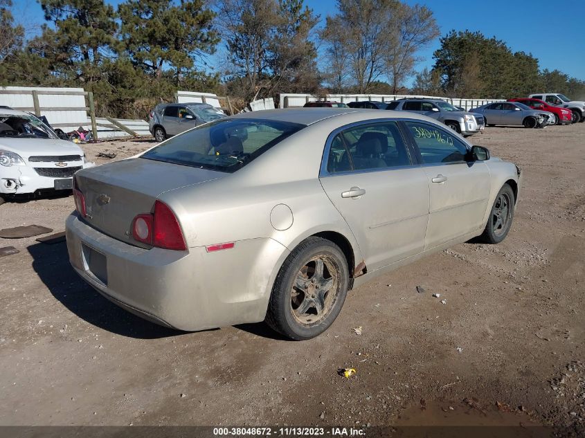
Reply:
<svg viewBox="0 0 585 438"><path fill-rule="evenodd" d="M187 249L177 217L161 201L154 203L154 213L145 213L134 218L132 237L159 248L179 251Z"/></svg>

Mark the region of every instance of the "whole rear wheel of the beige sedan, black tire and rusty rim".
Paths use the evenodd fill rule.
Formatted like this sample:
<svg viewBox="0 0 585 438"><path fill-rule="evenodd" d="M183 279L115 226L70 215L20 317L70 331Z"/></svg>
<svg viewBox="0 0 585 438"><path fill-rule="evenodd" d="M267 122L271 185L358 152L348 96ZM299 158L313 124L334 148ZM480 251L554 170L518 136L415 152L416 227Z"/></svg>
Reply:
<svg viewBox="0 0 585 438"><path fill-rule="evenodd" d="M321 272L318 262L321 262ZM265 321L288 338L314 338L327 330L339 315L348 293L348 282L348 263L341 249L327 239L309 237L282 264Z"/></svg>

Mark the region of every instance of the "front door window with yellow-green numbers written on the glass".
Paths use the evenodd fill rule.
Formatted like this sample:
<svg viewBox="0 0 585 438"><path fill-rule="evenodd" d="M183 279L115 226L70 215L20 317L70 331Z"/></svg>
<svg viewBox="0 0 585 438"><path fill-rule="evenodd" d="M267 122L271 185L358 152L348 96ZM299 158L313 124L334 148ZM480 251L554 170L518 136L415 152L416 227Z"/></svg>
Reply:
<svg viewBox="0 0 585 438"><path fill-rule="evenodd" d="M467 147L449 132L420 122L406 122L425 164L465 161Z"/></svg>

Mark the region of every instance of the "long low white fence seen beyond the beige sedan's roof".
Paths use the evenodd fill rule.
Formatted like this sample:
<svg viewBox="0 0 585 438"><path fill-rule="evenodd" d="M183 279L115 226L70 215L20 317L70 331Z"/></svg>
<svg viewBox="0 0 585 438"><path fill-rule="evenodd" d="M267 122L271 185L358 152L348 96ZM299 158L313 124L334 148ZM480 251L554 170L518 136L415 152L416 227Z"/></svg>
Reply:
<svg viewBox="0 0 585 438"><path fill-rule="evenodd" d="M491 102L502 102L503 99L462 99L462 98L445 98L441 96L414 95L414 94L327 94L324 96L315 96L312 94L280 94L280 108L303 107L307 102L316 102L318 100L331 100L334 102L349 103L360 102L361 100L374 100L377 102L391 102L402 98L426 98L442 99L457 107L471 109L480 105Z"/></svg>

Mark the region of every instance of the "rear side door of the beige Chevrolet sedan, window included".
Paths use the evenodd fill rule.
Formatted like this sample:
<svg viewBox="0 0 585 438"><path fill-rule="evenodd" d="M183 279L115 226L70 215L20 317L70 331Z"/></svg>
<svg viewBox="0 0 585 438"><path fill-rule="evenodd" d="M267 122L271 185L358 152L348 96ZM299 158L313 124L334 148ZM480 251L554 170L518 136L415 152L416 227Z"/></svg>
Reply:
<svg viewBox="0 0 585 438"><path fill-rule="evenodd" d="M368 271L422 251L429 186L396 122L334 131L324 156L321 185L354 233Z"/></svg>

